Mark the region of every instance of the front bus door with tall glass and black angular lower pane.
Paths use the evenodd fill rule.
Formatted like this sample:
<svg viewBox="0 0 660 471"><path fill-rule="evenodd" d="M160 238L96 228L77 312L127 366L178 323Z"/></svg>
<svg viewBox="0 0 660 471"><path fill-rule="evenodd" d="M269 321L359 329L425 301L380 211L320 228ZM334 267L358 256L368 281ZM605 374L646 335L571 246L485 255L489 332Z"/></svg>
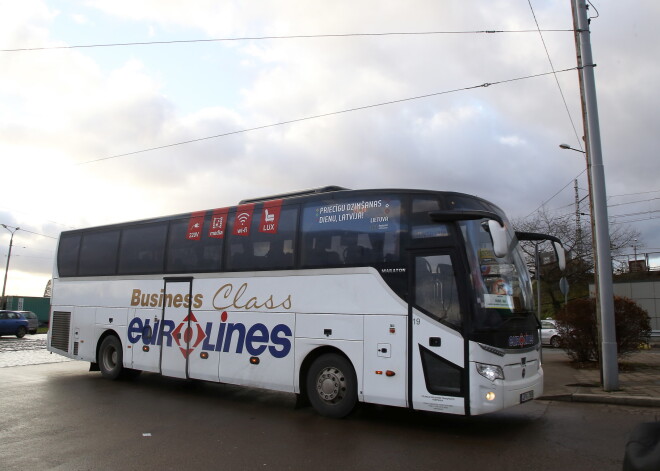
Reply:
<svg viewBox="0 0 660 471"><path fill-rule="evenodd" d="M447 251L411 254L409 405L413 409L464 414L467 381L460 334L457 257ZM469 397L469 396L468 396Z"/></svg>

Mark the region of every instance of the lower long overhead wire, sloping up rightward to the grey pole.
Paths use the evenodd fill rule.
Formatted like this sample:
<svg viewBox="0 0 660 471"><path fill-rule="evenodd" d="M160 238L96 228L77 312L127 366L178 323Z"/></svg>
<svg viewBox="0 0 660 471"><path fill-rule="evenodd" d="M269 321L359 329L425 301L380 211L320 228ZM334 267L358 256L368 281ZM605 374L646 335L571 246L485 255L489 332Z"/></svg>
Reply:
<svg viewBox="0 0 660 471"><path fill-rule="evenodd" d="M229 131L229 132L222 133L222 134L216 134L214 136L200 137L200 138L196 138L196 139L190 139L190 140L187 140L187 141L181 141L181 142L175 142L175 143L172 143L172 144L165 144L165 145L162 145L162 146L150 147L148 149L141 149L141 150L136 150L136 151L133 151L133 152L126 152L124 154L116 154L116 155L111 155L111 156L108 156L108 157L101 157L99 159L93 159L93 160L87 160L85 162L79 162L76 165L86 165L86 164L91 164L91 163L96 163L96 162L102 162L104 160L118 159L120 157L127 157L127 156L130 156L130 155L141 154L141 153L151 152L151 151L160 150L160 149L167 149L169 147L182 146L184 144L192 144L194 142L207 141L207 140L210 140L210 139L218 139L218 138L221 138L221 137L232 136L232 135L235 135L235 134L244 134L244 133L251 132L251 131L258 131L260 129L267 129L267 128L272 128L272 127L276 127L276 126L283 126L285 124L299 123L301 121L308 121L308 120L318 119L318 118L327 118L328 116L336 116L336 115L345 114L345 113L352 113L354 111L363 111L363 110L368 110L368 109L371 109L371 108L377 108L377 107L380 107L380 106L393 105L393 104L404 103L404 102L413 101L413 100L421 100L423 98L430 98L430 97L434 97L434 96L448 95L450 93L457 93L457 92L462 92L462 91L466 91L466 90L473 90L473 89L476 89L476 88L487 88L487 87L490 87L490 86L493 86L493 85L501 85L501 84L504 84L504 83L517 82L517 81L520 81L520 80L527 80L527 79L531 79L531 78L543 77L543 76L546 76L546 75L552 75L552 74L556 74L556 73L570 72L572 70L577 70L577 69L578 69L578 67L572 67L570 69L564 69L564 70L560 70L560 71L557 71L557 72L555 72L555 71L553 71L553 72L543 72L543 73L540 73L540 74L527 75L525 77L517 77L517 78L512 78L512 79L500 80L500 81L497 81L497 82L486 82L486 83L482 83L481 85L472 85L472 86L469 86L469 87L456 88L456 89L453 89L453 90L445 90L445 91L442 91L442 92L428 93L426 95L419 95L419 96L410 97L410 98L402 98L402 99L399 99L399 100L391 100L391 101L386 101L386 102L382 102L382 103L375 103L375 104L372 104L372 105L358 106L358 107L355 107L355 108L349 108L349 109L341 110L341 111L331 111L329 113L323 113L323 114L318 114L318 115L314 115L314 116L306 116L304 118L290 119L288 121L280 121L278 123L264 124L263 126L255 126L255 127L252 127L252 128L239 129L239 130L236 130L236 131ZM580 175L582 175L582 174L580 174Z"/></svg>

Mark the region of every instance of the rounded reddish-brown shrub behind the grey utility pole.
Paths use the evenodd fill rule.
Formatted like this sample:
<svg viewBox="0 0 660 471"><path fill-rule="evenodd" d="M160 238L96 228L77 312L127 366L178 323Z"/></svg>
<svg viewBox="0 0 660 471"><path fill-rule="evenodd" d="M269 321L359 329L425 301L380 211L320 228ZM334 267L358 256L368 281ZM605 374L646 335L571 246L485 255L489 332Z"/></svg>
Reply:
<svg viewBox="0 0 660 471"><path fill-rule="evenodd" d="M571 359L581 362L599 359L595 299L570 301L556 318L557 331ZM647 312L628 298L614 297L614 324L619 357L637 351L651 333Z"/></svg>

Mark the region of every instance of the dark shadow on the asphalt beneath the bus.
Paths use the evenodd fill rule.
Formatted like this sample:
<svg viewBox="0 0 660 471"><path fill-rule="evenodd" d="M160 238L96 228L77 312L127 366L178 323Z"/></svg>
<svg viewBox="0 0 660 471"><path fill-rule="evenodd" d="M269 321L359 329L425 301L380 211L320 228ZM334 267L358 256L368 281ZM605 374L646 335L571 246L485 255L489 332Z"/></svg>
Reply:
<svg viewBox="0 0 660 471"><path fill-rule="evenodd" d="M70 378L60 378L67 380ZM79 377L77 377L79 378ZM466 437L493 437L515 440L524 435L530 426L538 425L545 405L525 404L504 411L482 416L457 416L406 408L358 404L351 415L342 420L319 416L311 406L301 406L291 393L270 391L201 380L186 380L164 377L155 373L142 373L132 380L108 381L99 373L88 373L85 383L99 392L107 392L113 397L130 397L132 401L145 404L167 403L168 407L188 407L190 404L208 410L209 415L223 414L230 409L232 414L244 415L252 420L255 414L260 417L278 417L300 425L331 428L358 427L409 429L431 433L435 436L450 434ZM293 424L292 424L293 425Z"/></svg>

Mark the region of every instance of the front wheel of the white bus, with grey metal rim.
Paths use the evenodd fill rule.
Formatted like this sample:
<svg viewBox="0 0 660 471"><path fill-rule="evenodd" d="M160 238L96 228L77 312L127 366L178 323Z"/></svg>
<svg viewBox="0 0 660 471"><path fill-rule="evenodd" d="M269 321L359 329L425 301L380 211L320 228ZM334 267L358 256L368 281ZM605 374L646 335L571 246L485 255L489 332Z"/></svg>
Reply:
<svg viewBox="0 0 660 471"><path fill-rule="evenodd" d="M351 362L336 353L318 357L307 372L307 395L320 415L346 417L357 403L357 377Z"/></svg>

